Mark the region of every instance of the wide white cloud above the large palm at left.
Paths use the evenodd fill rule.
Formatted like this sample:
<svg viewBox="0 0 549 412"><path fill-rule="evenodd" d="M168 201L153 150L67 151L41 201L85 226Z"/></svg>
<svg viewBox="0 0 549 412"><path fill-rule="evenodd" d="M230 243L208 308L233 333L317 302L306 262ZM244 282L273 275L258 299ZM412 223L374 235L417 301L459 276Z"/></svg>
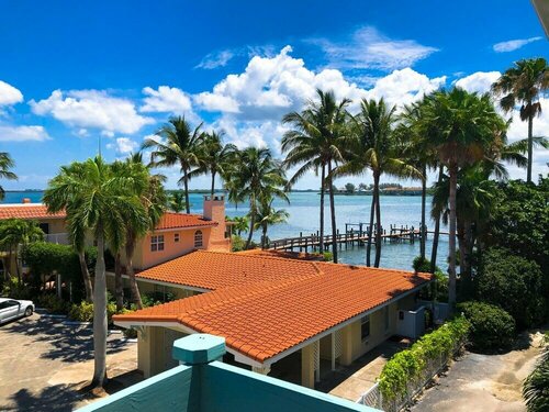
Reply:
<svg viewBox="0 0 549 412"><path fill-rule="evenodd" d="M131 100L110 96L102 90L55 90L47 99L30 101L35 114L52 115L58 121L78 129L99 129L105 135L133 134L150 118L137 113Z"/></svg>

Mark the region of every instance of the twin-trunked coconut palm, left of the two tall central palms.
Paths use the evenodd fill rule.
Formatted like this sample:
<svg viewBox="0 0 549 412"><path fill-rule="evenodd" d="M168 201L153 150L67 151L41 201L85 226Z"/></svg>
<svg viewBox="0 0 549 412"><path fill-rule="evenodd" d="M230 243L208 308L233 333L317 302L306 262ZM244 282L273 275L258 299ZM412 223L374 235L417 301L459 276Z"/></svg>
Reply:
<svg viewBox="0 0 549 412"><path fill-rule="evenodd" d="M324 250L324 192L329 192L332 221L332 254L337 263L337 226L334 202L334 169L344 162L344 146L348 140L346 110L350 100L337 101L333 91L316 90L317 101L309 101L302 112L288 113L282 123L292 126L282 137L282 152L287 154L284 167L300 165L289 181L293 186L307 171L321 170L320 247Z"/></svg>

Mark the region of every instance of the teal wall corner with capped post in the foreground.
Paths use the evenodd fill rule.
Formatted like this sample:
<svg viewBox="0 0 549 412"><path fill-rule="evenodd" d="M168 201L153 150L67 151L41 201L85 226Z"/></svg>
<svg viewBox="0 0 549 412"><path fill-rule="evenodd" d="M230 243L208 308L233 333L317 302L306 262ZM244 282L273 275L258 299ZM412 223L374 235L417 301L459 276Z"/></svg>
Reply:
<svg viewBox="0 0 549 412"><path fill-rule="evenodd" d="M224 353L220 336L178 339L172 348L178 366L78 411L379 412L221 363Z"/></svg>

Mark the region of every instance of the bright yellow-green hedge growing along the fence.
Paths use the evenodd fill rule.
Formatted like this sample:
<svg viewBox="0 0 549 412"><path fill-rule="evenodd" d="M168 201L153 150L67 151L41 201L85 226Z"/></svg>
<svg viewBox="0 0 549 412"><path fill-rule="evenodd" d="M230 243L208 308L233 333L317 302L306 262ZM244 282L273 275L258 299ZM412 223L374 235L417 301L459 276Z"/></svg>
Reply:
<svg viewBox="0 0 549 412"><path fill-rule="evenodd" d="M406 394L406 383L425 374L428 360L450 359L467 339L469 326L464 318L457 318L424 335L408 349L395 354L381 370L380 389L383 398L391 401Z"/></svg>

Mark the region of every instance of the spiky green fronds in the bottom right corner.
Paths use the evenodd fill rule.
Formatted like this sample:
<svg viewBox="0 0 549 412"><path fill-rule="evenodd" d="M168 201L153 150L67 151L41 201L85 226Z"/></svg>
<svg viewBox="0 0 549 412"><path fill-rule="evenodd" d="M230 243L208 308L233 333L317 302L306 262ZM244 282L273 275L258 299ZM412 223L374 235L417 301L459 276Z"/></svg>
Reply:
<svg viewBox="0 0 549 412"><path fill-rule="evenodd" d="M549 411L549 347L524 381L523 397L528 412Z"/></svg>

